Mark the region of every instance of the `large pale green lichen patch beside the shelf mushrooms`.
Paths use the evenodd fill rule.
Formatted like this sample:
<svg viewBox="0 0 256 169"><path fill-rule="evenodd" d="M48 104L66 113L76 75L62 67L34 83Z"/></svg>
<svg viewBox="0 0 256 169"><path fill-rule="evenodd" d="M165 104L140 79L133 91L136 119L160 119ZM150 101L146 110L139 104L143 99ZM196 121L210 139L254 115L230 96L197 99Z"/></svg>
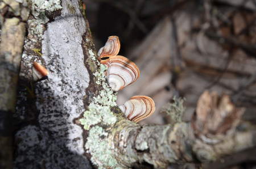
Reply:
<svg viewBox="0 0 256 169"><path fill-rule="evenodd" d="M89 49L89 54L89 57L100 66L94 76L96 77L96 83L101 84L104 90L94 96L93 102L89 104L88 111L84 112L84 118L80 119L84 129L89 130L85 147L88 153L92 155L92 163L97 165L98 168L121 168L114 158L109 133L97 125L111 126L117 122L117 116L110 109L117 105L115 103L117 96L106 83L105 70L107 67L98 62L93 50Z"/></svg>

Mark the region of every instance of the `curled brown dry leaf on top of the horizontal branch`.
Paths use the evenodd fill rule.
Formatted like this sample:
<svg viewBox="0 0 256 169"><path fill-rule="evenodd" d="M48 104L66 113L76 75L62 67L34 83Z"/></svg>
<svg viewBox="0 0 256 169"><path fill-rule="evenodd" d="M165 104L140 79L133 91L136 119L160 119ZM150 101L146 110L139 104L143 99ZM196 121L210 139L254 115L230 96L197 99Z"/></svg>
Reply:
<svg viewBox="0 0 256 169"><path fill-rule="evenodd" d="M217 92L205 91L199 98L196 113L193 116L193 128L197 136L225 134L228 130L236 128L241 121L245 108L236 108L230 96Z"/></svg>

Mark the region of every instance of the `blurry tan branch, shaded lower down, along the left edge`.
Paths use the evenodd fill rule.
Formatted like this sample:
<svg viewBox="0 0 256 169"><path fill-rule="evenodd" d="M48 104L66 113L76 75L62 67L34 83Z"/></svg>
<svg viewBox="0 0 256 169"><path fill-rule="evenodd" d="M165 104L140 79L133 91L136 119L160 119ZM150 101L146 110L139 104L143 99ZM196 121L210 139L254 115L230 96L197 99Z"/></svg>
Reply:
<svg viewBox="0 0 256 169"><path fill-rule="evenodd" d="M0 168L13 168L13 119L16 86L26 32L27 8L18 2L3 3L0 44ZM16 9L15 11L13 9ZM1 10L2 10L1 9ZM20 11L23 16L20 18ZM10 18L8 14L13 14Z"/></svg>

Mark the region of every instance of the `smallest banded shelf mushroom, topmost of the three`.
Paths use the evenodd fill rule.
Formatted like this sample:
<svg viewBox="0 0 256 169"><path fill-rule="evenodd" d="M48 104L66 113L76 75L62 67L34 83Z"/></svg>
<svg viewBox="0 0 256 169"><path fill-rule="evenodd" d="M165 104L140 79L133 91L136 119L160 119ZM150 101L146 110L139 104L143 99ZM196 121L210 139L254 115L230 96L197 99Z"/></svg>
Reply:
<svg viewBox="0 0 256 169"><path fill-rule="evenodd" d="M98 50L98 59L110 56L116 56L120 50L120 41L118 36L109 36L105 46Z"/></svg>

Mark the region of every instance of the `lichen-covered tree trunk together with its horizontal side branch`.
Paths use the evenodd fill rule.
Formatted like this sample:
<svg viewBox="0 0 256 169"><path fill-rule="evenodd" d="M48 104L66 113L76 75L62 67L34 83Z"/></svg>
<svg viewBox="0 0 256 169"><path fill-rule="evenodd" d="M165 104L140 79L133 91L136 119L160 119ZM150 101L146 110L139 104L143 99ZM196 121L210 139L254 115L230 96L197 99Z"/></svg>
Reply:
<svg viewBox="0 0 256 169"><path fill-rule="evenodd" d="M141 126L127 120L100 69L82 3L29 5L14 168L166 168L212 162L255 146L255 125L240 122L244 109L227 95L205 92L192 122ZM49 71L47 79L32 81L34 61Z"/></svg>

